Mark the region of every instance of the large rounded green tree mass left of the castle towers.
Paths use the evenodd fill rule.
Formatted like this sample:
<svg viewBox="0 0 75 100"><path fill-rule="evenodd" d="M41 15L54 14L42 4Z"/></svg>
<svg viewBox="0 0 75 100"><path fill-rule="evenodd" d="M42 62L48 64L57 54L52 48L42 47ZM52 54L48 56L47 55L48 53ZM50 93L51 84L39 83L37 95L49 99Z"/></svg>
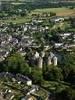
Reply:
<svg viewBox="0 0 75 100"><path fill-rule="evenodd" d="M29 66L25 62L24 57L22 57L19 53L14 53L9 56L4 66L7 68L6 71L11 71L15 73L22 73L28 75L29 73Z"/></svg>

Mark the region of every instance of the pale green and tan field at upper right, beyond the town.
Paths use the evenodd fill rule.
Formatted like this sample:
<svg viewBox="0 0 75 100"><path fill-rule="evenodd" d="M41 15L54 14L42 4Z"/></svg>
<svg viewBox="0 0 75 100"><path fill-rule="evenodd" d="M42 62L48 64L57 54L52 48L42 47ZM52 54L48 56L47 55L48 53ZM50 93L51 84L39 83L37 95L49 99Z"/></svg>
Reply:
<svg viewBox="0 0 75 100"><path fill-rule="evenodd" d="M57 16L75 15L75 9L70 9L70 8L66 8L66 7L36 9L36 10L32 11L32 14L40 14L43 12L55 12Z"/></svg>

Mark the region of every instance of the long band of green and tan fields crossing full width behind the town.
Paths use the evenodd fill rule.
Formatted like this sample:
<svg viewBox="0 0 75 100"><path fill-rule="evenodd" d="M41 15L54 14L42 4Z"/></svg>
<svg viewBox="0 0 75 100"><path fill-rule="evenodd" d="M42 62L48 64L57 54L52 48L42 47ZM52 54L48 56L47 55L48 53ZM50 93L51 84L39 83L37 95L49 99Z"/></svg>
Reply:
<svg viewBox="0 0 75 100"><path fill-rule="evenodd" d="M75 9L70 9L66 7L62 8L44 8L44 9L36 9L31 11L28 16L24 17L17 17L15 20L8 19L8 20L0 20L0 22L13 22L13 23L25 23L32 19L32 14L42 14L43 12L55 12L57 16L75 16Z"/></svg>

